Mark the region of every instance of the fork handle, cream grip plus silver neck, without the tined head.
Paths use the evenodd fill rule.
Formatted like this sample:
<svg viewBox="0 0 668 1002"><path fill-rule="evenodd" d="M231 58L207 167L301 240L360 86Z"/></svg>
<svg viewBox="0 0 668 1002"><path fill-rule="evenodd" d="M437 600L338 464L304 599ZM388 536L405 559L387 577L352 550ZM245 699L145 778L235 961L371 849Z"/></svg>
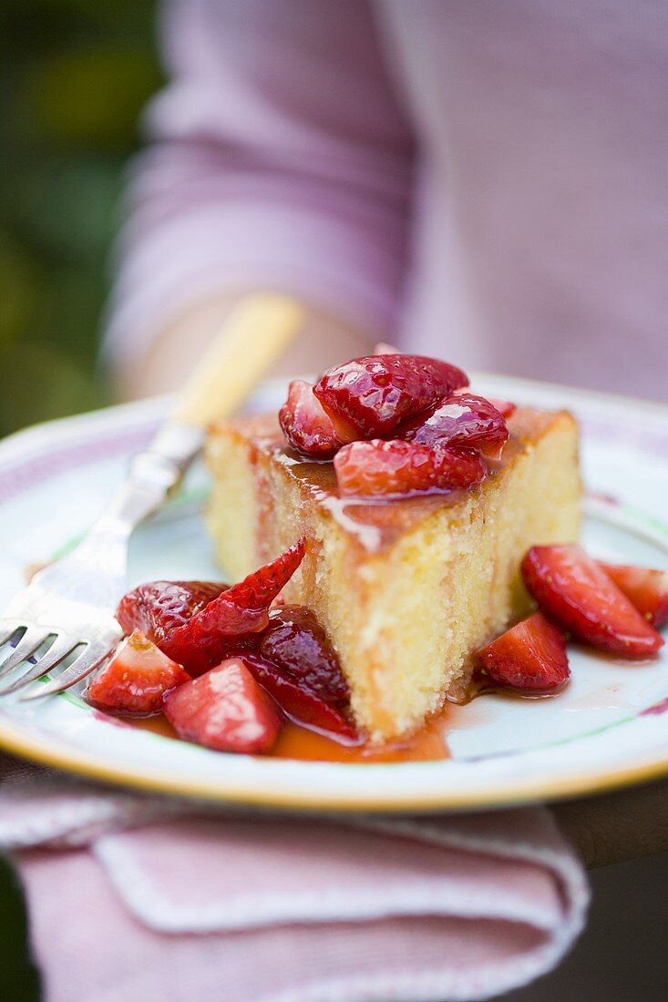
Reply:
<svg viewBox="0 0 668 1002"><path fill-rule="evenodd" d="M148 447L132 457L125 483L92 532L129 535L158 508L204 445L207 428L230 417L302 328L294 299L264 293L232 309Z"/></svg>

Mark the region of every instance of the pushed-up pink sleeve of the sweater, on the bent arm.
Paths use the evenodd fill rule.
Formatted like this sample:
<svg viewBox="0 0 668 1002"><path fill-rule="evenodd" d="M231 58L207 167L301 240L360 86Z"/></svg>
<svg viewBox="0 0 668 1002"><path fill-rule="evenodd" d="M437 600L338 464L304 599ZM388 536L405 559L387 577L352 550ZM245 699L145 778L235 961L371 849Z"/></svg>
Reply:
<svg viewBox="0 0 668 1002"><path fill-rule="evenodd" d="M172 0L106 325L125 364L190 305L280 290L379 339L405 268L409 128L361 0Z"/></svg>

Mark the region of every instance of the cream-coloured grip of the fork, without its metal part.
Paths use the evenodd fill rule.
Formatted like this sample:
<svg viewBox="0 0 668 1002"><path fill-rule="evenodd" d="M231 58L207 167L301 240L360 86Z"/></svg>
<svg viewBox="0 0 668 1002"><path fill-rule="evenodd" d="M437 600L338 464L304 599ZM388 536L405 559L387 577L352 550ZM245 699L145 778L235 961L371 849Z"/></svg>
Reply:
<svg viewBox="0 0 668 1002"><path fill-rule="evenodd" d="M288 296L240 300L177 400L173 421L206 428L246 400L301 330L304 311Z"/></svg>

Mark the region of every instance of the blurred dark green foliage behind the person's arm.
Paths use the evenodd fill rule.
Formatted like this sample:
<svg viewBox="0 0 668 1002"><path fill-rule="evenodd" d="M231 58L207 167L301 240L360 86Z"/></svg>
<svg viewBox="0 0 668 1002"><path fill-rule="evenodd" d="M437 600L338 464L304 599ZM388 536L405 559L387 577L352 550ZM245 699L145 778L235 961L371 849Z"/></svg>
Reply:
<svg viewBox="0 0 668 1002"><path fill-rule="evenodd" d="M108 400L108 249L160 83L148 0L0 4L0 435Z"/></svg>

